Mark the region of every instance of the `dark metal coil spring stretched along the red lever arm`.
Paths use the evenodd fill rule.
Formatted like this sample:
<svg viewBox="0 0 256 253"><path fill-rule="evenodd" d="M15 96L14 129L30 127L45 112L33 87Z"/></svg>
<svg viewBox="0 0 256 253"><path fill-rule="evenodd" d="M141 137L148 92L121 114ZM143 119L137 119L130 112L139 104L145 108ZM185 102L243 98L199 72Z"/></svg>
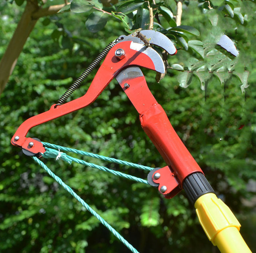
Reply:
<svg viewBox="0 0 256 253"><path fill-rule="evenodd" d="M55 108L62 105L71 96L71 94L80 87L84 79L99 65L101 60L109 53L109 50L122 39L116 39L114 42L109 43L102 52L94 59L94 61L87 67L87 69L74 81L74 83L67 89L67 91L59 98Z"/></svg>

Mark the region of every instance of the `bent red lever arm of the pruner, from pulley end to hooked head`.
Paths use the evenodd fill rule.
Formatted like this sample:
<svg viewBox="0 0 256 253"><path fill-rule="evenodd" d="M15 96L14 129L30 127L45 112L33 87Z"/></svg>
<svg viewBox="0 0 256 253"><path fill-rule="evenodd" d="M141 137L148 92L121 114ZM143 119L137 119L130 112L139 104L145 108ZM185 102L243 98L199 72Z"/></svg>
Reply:
<svg viewBox="0 0 256 253"><path fill-rule="evenodd" d="M48 111L45 111L42 114L36 115L24 121L12 137L11 143L15 146L27 149L34 154L39 152L44 153L45 149L42 143L26 137L29 129L49 120L56 119L60 116L84 108L93 103L98 98L100 93L105 89L105 87L111 82L111 80L118 74L118 72L127 66L136 65L155 70L155 65L152 59L140 51L131 49L131 43L131 41L125 41L118 43L113 48L111 48L85 95L66 104L59 105L56 108L54 104ZM125 58L122 60L119 60L115 57L115 50L120 47L122 47L126 53ZM15 140L15 136L18 136L19 139ZM33 142L34 145L29 147L29 142Z"/></svg>

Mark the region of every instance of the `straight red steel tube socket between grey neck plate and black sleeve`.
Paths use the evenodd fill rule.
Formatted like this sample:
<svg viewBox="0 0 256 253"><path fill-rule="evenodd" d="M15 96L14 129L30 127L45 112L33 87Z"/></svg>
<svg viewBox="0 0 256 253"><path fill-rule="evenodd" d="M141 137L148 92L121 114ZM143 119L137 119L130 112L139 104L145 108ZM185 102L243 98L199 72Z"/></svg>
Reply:
<svg viewBox="0 0 256 253"><path fill-rule="evenodd" d="M127 89L124 84L130 87ZM148 89L144 76L126 78L120 83L126 95L140 114L142 129L152 140L182 187L190 174L203 173L173 129L165 111Z"/></svg>

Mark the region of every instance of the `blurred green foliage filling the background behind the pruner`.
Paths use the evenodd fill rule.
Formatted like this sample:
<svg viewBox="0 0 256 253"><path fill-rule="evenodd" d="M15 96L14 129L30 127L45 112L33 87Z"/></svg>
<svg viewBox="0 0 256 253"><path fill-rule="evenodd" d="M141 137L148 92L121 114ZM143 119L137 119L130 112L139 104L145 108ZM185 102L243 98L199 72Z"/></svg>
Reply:
<svg viewBox="0 0 256 253"><path fill-rule="evenodd" d="M178 70L168 70L159 84L155 82L155 73L145 69L143 73L177 134L218 197L236 214L242 224L241 234L255 251L255 189L250 187L256 179L255 14L251 11L255 4L244 2L243 8L254 15L251 23L242 25L222 14L219 23L240 50L236 70L243 71L245 67L250 72L244 92L240 88L243 83L236 76L231 77L228 85L210 76L203 91L200 87L205 84L200 83L196 74L185 89L179 86ZM175 9L175 2L166 4ZM197 5L196 1L184 4L182 24L200 31L199 36L187 34L189 40L203 41L214 28ZM22 10L23 5L0 3L0 56ZM126 33L123 23L114 18L102 30L91 33L85 28L88 15L91 14L67 12L51 17L51 22L48 18L38 22L1 95L1 252L129 252L38 164L10 144L24 120L48 110L110 41ZM180 46L182 50L176 56L169 56L170 66L180 64L186 72L188 58L205 61L196 51L184 50L184 44ZM86 92L95 73L72 99ZM237 130L240 125L244 127ZM37 126L28 136L147 166L165 166L142 131L136 110L115 80L89 107ZM134 168L90 158L86 161L146 178L145 172ZM96 169L54 159L43 162L140 252L216 252L184 192L171 200L163 199L156 189Z"/></svg>

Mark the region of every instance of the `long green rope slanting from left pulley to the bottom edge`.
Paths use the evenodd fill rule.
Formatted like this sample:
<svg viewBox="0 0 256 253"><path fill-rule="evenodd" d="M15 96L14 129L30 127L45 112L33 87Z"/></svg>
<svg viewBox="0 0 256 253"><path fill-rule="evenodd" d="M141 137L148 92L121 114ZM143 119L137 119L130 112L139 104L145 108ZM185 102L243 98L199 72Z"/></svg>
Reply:
<svg viewBox="0 0 256 253"><path fill-rule="evenodd" d="M139 253L132 245L124 239L112 226L110 226L97 212L95 212L82 198L80 198L67 184L56 176L42 161L37 157L32 157L46 172L53 177L66 191L75 197L91 214L93 214L106 228L110 230L125 246L133 253Z"/></svg>

